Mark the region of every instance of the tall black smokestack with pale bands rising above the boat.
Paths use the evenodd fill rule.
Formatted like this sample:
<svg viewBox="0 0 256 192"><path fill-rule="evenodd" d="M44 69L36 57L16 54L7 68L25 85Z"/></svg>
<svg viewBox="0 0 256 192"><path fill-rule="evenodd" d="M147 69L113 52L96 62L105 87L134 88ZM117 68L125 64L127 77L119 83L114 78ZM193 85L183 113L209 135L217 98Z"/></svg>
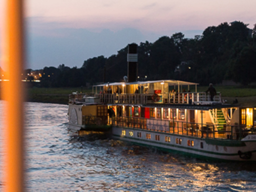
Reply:
<svg viewBox="0 0 256 192"><path fill-rule="evenodd" d="M128 64L128 82L136 81L137 77L137 61L138 61L138 54L137 54L137 44L131 43L128 44L128 53L127 53L127 64Z"/></svg>

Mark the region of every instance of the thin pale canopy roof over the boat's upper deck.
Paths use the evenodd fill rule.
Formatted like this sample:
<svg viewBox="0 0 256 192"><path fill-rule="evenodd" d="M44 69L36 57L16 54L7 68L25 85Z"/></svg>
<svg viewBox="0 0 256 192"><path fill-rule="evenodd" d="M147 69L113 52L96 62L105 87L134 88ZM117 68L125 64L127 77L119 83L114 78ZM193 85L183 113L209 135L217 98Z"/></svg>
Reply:
<svg viewBox="0 0 256 192"><path fill-rule="evenodd" d="M97 85L93 85L93 86L112 86L112 85L122 85L122 84L147 84L147 83L155 83L155 82L164 82L164 83L168 83L168 85L197 85L199 83L195 83L195 82L187 82L187 81L182 81L182 80L147 80L147 81L135 81L135 82L108 82L108 83L103 83L103 84L97 84Z"/></svg>

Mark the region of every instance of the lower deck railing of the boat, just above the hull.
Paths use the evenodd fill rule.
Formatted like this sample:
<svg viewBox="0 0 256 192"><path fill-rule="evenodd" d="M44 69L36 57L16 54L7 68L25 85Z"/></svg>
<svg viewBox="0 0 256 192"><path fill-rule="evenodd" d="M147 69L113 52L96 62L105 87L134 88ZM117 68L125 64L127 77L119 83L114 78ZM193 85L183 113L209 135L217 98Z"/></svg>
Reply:
<svg viewBox="0 0 256 192"><path fill-rule="evenodd" d="M256 134L256 128L254 126L247 127L241 125L227 125L224 129L218 130L213 124L140 117L112 117L112 125L201 138L220 138L229 140L241 140L246 135Z"/></svg>

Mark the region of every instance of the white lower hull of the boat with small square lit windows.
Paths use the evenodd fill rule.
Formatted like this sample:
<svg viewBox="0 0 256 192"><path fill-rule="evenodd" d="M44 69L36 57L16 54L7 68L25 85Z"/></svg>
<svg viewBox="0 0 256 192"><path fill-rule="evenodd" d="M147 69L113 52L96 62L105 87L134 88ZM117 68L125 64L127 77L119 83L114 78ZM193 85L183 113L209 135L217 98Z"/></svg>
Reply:
<svg viewBox="0 0 256 192"><path fill-rule="evenodd" d="M149 134L150 138L147 137ZM159 135L159 140L156 140L156 135ZM112 137L138 145L153 146L164 151L185 154L201 159L256 161L256 141L225 142L225 140L213 140L117 126L112 127ZM191 142L193 142L193 146Z"/></svg>

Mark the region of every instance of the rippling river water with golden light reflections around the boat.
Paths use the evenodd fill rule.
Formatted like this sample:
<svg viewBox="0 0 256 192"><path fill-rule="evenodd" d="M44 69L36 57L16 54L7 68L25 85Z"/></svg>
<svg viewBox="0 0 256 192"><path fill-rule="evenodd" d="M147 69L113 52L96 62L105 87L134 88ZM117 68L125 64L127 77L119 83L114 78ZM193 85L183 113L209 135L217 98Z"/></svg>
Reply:
<svg viewBox="0 0 256 192"><path fill-rule="evenodd" d="M254 163L207 162L102 135L77 136L67 130L67 107L25 104L26 191L256 191ZM2 155L0 149L0 161ZM2 173L0 163L0 190Z"/></svg>

